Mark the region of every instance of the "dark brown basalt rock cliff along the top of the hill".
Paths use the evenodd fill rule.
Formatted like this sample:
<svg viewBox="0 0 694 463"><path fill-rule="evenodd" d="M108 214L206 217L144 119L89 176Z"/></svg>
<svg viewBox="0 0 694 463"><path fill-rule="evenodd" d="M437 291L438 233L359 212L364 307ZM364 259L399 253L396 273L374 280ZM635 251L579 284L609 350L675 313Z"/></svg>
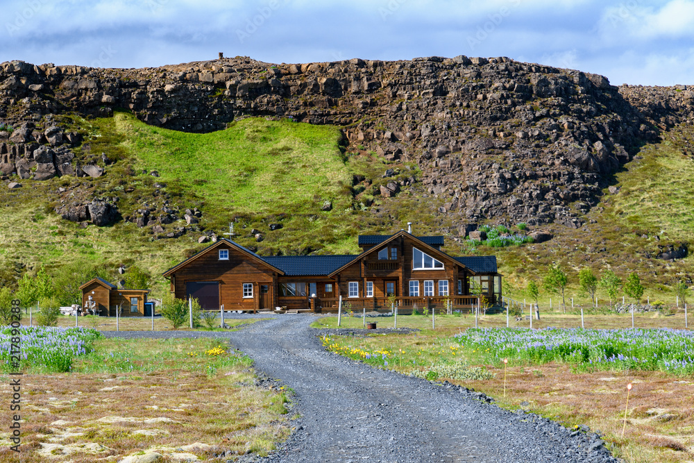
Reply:
<svg viewBox="0 0 694 463"><path fill-rule="evenodd" d="M418 194L434 214L578 228L640 144L694 122L694 88L615 87L595 74L465 56L303 65L237 57L146 69L13 61L0 65L0 171L108 175L106 160L83 159L84 134L56 116L116 108L191 132L243 117L334 124L348 151L416 162ZM374 193L396 196L400 186Z"/></svg>

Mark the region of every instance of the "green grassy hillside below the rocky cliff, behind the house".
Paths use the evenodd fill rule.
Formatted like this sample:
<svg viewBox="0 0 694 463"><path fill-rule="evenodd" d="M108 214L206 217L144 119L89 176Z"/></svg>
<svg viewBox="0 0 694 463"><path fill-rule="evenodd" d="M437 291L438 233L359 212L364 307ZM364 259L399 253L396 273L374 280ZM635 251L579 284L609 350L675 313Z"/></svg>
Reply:
<svg viewBox="0 0 694 463"><path fill-rule="evenodd" d="M574 294L577 271L589 266L595 273L611 267L623 278L638 271L653 297L665 298L668 285L694 273L691 256L675 263L646 256L693 236L694 161L685 154L691 128L677 128L663 142L643 146L614 176L620 191L605 189L602 202L584 216L583 228L540 227L555 238L496 249L455 242L459 224L435 213L443 199L428 197L418 183L403 187L393 199L378 196L380 185L416 178L418 169L375 153L344 151L335 127L243 119L224 131L200 135L148 126L125 112L108 119L65 117L62 123L83 133L87 157L103 165L104 153L115 163L105 166L101 178L24 180L19 190L0 190L0 279L5 285L40 264L53 275L74 262L99 264L112 280L120 278L115 273L119 264L135 264L161 292L162 271L207 246L198 244L206 231L227 232L230 221L235 221L235 240L264 255L355 253L359 233L392 233L412 221L418 235L448 235L446 251L453 255L498 255L502 273L516 288L540 280L548 265L557 263L568 270ZM389 168L395 176L383 178ZM152 171L160 176L151 176ZM60 196L59 187L68 192ZM117 197L123 217L144 205L161 208L164 201L180 211L199 208L203 216L176 239L156 239L151 226L122 220L80 228L54 212L61 200L80 195ZM325 201L332 210L321 210ZM271 231L270 224L282 228ZM164 229L183 225L179 220ZM251 234L254 228L262 242Z"/></svg>

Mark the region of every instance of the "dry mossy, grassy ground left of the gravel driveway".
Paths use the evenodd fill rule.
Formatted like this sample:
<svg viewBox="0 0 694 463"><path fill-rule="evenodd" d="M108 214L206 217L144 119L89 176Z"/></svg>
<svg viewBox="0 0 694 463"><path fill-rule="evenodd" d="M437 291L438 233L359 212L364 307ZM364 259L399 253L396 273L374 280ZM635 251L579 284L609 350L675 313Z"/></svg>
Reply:
<svg viewBox="0 0 694 463"><path fill-rule="evenodd" d="M286 392L255 386L251 360L228 346L210 339L99 339L94 346L70 373L22 376L22 462L266 455L289 435ZM0 380L8 392L8 376ZM0 419L10 422L9 413L3 407ZM0 462L17 461L8 434L0 437Z"/></svg>

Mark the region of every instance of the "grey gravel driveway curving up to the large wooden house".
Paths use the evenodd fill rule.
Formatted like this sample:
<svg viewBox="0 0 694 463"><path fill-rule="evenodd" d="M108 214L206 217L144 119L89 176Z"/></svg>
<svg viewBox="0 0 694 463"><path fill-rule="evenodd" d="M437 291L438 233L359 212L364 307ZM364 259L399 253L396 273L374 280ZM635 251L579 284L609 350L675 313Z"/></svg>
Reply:
<svg viewBox="0 0 694 463"><path fill-rule="evenodd" d="M248 316L246 316L248 317ZM484 394L369 367L325 352L315 318L280 315L229 333L119 332L121 337L217 337L296 392L296 432L263 462L618 462L597 435L508 412ZM115 332L104 333L113 336Z"/></svg>

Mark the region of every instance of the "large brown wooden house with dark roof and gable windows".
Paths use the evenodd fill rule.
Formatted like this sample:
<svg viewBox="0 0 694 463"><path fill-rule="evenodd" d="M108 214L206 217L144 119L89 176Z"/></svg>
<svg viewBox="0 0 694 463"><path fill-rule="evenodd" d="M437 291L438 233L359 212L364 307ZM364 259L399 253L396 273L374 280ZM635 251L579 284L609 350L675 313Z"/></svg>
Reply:
<svg viewBox="0 0 694 463"><path fill-rule="evenodd" d="M501 296L496 257L452 257L443 237L359 236L358 255L261 257L221 239L164 273L177 298L204 309L335 311L342 296L355 309L470 307L471 280L491 303Z"/></svg>

